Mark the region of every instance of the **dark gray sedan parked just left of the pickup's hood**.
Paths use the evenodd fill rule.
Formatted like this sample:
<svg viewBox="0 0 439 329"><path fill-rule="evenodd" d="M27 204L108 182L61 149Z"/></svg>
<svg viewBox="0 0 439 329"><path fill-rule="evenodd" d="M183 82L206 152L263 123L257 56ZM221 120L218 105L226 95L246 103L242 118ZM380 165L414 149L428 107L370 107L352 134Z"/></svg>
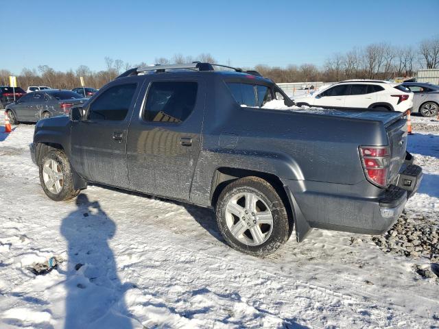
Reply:
<svg viewBox="0 0 439 329"><path fill-rule="evenodd" d="M57 115L69 114L70 108L86 99L70 90L47 89L28 93L6 106L10 123L36 122Z"/></svg>

